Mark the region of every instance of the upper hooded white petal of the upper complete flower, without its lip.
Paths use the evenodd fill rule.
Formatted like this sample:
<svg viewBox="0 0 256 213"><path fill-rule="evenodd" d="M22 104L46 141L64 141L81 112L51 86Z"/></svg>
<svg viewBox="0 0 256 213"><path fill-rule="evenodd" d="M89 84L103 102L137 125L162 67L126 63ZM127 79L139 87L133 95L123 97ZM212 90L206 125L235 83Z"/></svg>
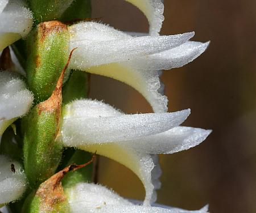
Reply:
<svg viewBox="0 0 256 213"><path fill-rule="evenodd" d="M191 32L173 36L132 37L93 22L72 25L69 32L69 49L78 48L73 53L70 66L79 70L163 52L183 44L194 35Z"/></svg>

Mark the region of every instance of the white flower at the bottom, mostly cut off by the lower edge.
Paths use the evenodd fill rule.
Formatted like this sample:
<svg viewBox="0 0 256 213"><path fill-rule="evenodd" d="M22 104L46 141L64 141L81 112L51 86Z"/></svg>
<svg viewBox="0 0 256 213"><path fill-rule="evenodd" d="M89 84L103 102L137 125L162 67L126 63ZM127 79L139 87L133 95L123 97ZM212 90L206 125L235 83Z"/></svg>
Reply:
<svg viewBox="0 0 256 213"><path fill-rule="evenodd" d="M104 213L206 213L208 206L198 211L187 211L179 208L160 208L151 206L138 206L123 199L114 191L96 184L77 184L65 191L68 197L70 211L78 212L104 212Z"/></svg>

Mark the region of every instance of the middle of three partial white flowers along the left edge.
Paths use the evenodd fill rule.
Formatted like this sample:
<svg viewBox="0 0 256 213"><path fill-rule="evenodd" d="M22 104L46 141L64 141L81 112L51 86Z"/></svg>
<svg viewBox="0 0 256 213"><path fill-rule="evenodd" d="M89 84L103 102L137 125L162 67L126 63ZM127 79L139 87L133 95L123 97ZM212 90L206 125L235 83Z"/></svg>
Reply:
<svg viewBox="0 0 256 213"><path fill-rule="evenodd" d="M0 72L0 136L18 117L28 112L33 95L14 73Z"/></svg>

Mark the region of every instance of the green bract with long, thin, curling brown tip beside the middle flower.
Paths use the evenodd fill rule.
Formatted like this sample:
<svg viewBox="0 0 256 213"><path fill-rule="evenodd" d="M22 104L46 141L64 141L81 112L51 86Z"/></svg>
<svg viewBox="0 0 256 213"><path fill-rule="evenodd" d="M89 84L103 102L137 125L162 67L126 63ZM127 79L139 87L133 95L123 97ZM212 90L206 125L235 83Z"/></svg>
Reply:
<svg viewBox="0 0 256 213"><path fill-rule="evenodd" d="M59 131L63 75L51 97L35 105L22 121L24 168L32 186L51 177L60 163L62 147L55 139Z"/></svg>

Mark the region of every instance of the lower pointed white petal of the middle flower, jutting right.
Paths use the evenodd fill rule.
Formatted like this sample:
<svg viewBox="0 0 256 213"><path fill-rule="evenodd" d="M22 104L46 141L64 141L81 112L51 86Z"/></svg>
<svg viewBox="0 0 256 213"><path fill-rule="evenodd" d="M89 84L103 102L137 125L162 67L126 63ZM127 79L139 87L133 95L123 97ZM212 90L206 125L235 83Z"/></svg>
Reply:
<svg viewBox="0 0 256 213"><path fill-rule="evenodd" d="M160 134L122 142L139 152L148 154L172 154L195 147L203 142L211 130L177 126Z"/></svg>

